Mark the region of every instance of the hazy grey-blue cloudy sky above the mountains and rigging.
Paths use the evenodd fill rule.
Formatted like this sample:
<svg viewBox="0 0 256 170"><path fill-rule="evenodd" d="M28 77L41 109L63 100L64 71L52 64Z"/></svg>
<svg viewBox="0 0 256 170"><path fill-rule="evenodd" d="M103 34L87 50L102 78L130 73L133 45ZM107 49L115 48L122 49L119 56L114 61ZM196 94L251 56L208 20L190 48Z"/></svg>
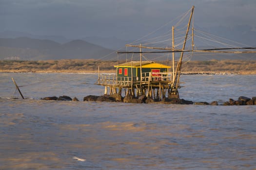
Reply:
<svg viewBox="0 0 256 170"><path fill-rule="evenodd" d="M256 0L0 0L0 32L137 39L192 5L202 28L256 32Z"/></svg>

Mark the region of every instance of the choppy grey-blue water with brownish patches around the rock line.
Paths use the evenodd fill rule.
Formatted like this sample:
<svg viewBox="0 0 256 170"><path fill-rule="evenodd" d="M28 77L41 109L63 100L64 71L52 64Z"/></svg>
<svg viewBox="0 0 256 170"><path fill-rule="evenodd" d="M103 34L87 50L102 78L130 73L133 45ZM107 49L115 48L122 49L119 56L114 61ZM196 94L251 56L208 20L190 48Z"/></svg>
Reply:
<svg viewBox="0 0 256 170"><path fill-rule="evenodd" d="M11 99L11 77L29 99ZM256 105L41 101L82 101L104 88L94 85L97 74L0 78L0 169L256 169ZM256 75L182 75L181 82L180 98L194 102L256 96Z"/></svg>

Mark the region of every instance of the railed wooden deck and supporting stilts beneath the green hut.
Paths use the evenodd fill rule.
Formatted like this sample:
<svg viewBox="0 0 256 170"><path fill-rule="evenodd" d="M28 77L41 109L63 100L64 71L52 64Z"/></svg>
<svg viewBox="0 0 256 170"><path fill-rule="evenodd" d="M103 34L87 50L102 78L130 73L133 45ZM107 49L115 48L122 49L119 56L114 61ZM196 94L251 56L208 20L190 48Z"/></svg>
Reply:
<svg viewBox="0 0 256 170"><path fill-rule="evenodd" d="M122 93L131 94L135 97L147 95L147 97L161 100L166 93L171 92L173 80L172 72L145 72L141 79L138 77L117 77L116 74L98 74L96 85L105 86L104 94Z"/></svg>

